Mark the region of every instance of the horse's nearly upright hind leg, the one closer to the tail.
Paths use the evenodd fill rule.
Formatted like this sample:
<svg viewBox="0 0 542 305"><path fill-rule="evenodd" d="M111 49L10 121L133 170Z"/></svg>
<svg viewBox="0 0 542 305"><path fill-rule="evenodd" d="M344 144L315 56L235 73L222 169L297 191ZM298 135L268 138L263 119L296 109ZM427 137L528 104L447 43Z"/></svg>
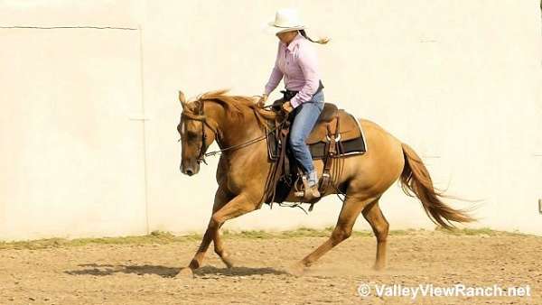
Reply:
<svg viewBox="0 0 542 305"><path fill-rule="evenodd" d="M377 237L377 259L374 264L375 270L382 270L386 266L386 240L388 239L388 220L382 214L378 206L378 199L369 203L363 209L363 217L367 219Z"/></svg>

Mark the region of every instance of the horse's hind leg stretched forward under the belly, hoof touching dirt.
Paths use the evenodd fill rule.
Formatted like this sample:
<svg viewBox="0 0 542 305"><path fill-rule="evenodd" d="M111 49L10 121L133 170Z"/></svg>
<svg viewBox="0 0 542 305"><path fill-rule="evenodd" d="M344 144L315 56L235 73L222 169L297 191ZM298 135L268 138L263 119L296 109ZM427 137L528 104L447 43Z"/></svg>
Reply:
<svg viewBox="0 0 542 305"><path fill-rule="evenodd" d="M322 257L323 254L330 251L335 245L338 245L343 240L350 237L352 226L354 226L356 219L360 216L361 210L373 200L375 200L375 198L359 199L353 196L347 196L342 204L341 214L337 220L337 225L333 229L332 236L311 254L305 256L301 262L295 263L290 267L288 272L294 275L301 275L305 267L309 267Z"/></svg>

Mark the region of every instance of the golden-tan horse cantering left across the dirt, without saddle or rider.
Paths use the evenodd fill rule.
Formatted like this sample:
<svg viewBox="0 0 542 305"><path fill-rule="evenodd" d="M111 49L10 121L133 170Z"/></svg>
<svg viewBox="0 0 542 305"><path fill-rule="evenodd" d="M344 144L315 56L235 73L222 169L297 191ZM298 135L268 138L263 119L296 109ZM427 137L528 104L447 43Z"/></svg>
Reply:
<svg viewBox="0 0 542 305"><path fill-rule="evenodd" d="M268 160L264 126L266 119L275 114L257 107L254 97L226 93L227 90L212 91L187 102L179 92L182 114L177 130L182 142L182 173L189 176L198 173L200 162L204 161L205 152L213 141L218 143L222 154L216 173L219 189L209 226L192 262L177 276L193 276L193 270L201 266L211 241L222 262L228 267L233 266L219 234L220 226L229 219L260 208L265 200L266 177L272 164ZM375 123L360 120L360 125L369 151L344 160L341 180L336 181L333 190L346 193L337 225L329 239L288 268L289 273L300 275L305 267L348 238L360 213L377 237L374 268L384 268L388 221L378 207L378 199L397 179L407 195L416 195L420 199L427 216L437 225L453 228L451 222L473 220L465 211L451 208L441 200L444 195L434 189L429 172L412 148ZM322 161L316 161L315 167L322 173ZM326 192L322 196L332 193ZM293 192L286 199L289 202L296 200Z"/></svg>

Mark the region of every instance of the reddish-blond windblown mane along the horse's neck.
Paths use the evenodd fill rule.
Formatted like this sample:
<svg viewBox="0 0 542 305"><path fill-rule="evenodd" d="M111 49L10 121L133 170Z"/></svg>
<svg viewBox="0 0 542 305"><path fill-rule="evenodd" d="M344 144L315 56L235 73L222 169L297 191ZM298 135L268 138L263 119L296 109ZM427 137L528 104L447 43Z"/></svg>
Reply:
<svg viewBox="0 0 542 305"><path fill-rule="evenodd" d="M227 95L228 92L229 89L205 92L196 97L193 102L198 105L202 101L218 103L224 107L228 115L238 120L243 119L248 114L254 114L260 127L265 127L267 120L275 119L276 113L257 106L256 97L229 96Z"/></svg>

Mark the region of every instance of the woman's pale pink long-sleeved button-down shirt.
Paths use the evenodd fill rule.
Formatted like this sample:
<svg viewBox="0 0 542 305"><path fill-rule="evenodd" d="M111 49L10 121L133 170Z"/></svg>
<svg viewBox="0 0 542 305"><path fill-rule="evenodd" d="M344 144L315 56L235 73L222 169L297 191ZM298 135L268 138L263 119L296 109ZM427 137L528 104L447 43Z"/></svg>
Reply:
<svg viewBox="0 0 542 305"><path fill-rule="evenodd" d="M275 90L283 76L288 90L299 91L290 100L294 108L311 100L320 84L316 51L299 32L287 47L284 42L278 42L275 67L266 84L266 95Z"/></svg>

